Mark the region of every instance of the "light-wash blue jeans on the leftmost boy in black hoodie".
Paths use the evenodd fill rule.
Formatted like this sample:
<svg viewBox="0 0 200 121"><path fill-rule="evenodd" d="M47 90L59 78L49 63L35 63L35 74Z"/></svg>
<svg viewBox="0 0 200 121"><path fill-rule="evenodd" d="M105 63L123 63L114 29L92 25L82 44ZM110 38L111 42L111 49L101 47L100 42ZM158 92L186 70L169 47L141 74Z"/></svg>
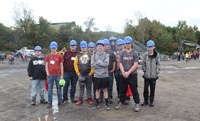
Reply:
<svg viewBox="0 0 200 121"><path fill-rule="evenodd" d="M40 100L44 99L44 81L45 80L32 80L31 98L36 101L37 90L39 90Z"/></svg>

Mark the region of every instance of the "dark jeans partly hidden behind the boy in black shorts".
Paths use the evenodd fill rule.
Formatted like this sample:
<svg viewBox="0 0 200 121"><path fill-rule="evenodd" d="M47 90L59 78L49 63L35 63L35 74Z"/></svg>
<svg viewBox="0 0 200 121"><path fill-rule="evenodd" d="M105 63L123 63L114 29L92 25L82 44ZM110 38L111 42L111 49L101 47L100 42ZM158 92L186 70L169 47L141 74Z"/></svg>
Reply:
<svg viewBox="0 0 200 121"><path fill-rule="evenodd" d="M109 86L108 86L108 98L112 99L113 98L113 73L108 73L108 78L109 78ZM103 89L101 89L101 94L100 98L103 99Z"/></svg>

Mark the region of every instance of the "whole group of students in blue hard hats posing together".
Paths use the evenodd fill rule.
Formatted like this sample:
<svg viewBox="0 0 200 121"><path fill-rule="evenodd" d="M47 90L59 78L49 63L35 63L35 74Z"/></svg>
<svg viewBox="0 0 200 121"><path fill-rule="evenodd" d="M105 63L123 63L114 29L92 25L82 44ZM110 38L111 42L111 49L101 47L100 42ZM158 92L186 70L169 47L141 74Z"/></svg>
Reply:
<svg viewBox="0 0 200 121"><path fill-rule="evenodd" d="M29 79L32 81L31 105L36 104L37 89L39 89L40 103L47 104L47 108L51 108L55 82L59 106L69 101L69 87L71 87L71 102L76 105L83 104L86 88L87 102L94 104L93 110L100 108L100 101L103 101L103 98L105 109L110 110L109 104L112 103L115 78L119 98L116 110L125 107L128 86L132 92L136 112L140 110L141 105L154 106L156 80L160 72L159 54L155 51L154 41L147 42L147 52L142 57L142 70L144 71L144 102L142 104L137 89L139 56L133 49L133 39L130 36L118 40L112 36L110 39L98 40L96 44L81 41L80 52L77 51L75 40L71 40L69 44L70 49L64 55L57 53L58 44L55 41L50 43L51 53L46 57L41 53L40 46L34 48L35 57L30 60L27 68ZM48 101L44 98L46 78L48 80ZM63 92L59 85L60 79L66 82ZM75 99L77 82L79 84L78 100ZM94 92L93 96L92 92Z"/></svg>

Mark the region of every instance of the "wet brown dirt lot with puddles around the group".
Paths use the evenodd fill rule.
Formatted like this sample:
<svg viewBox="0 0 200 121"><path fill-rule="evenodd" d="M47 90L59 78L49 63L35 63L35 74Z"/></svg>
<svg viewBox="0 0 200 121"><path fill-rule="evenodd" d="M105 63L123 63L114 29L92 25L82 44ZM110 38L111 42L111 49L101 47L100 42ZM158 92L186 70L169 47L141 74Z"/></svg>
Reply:
<svg viewBox="0 0 200 121"><path fill-rule="evenodd" d="M16 60L14 65L0 62L0 121L199 121L200 120L200 61L162 62L162 72L157 81L155 107L145 106L133 111L133 100L122 110L99 110L84 103L57 107L56 94L52 109L46 105L30 105L31 81L27 78L27 63ZM143 102L142 71L138 71L139 94ZM78 86L77 86L78 87ZM78 90L78 88L77 88ZM77 94L76 94L77 95ZM114 101L117 102L114 88Z"/></svg>

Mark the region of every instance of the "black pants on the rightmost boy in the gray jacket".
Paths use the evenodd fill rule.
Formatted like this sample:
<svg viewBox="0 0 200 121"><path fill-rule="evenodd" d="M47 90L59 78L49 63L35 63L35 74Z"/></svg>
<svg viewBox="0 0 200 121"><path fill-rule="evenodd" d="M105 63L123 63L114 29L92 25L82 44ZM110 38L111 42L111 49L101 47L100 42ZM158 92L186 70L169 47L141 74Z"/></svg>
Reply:
<svg viewBox="0 0 200 121"><path fill-rule="evenodd" d="M150 103L154 101L155 96L155 87L156 79L144 79L144 101L148 102L149 100L149 86L150 86Z"/></svg>

